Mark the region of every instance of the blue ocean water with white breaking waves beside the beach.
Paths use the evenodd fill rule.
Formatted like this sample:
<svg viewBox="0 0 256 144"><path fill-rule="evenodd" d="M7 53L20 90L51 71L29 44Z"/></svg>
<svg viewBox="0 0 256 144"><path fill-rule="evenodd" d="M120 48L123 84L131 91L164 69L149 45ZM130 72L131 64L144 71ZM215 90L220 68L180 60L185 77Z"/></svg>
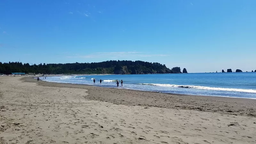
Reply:
<svg viewBox="0 0 256 144"><path fill-rule="evenodd" d="M119 88L123 89L256 99L256 72L52 76L46 81L116 88L116 79ZM123 87L121 80L124 81Z"/></svg>

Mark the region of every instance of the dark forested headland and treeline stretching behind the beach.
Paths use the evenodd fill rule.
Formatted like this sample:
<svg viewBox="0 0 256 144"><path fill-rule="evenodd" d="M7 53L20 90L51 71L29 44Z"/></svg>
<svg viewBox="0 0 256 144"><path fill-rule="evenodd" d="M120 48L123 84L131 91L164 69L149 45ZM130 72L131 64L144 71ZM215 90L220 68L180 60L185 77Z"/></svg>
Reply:
<svg viewBox="0 0 256 144"><path fill-rule="evenodd" d="M15 72L42 73L42 74L156 74L181 73L180 67L172 69L154 62L109 60L93 63L66 63L29 65L22 62L0 62L0 73L11 74Z"/></svg>

